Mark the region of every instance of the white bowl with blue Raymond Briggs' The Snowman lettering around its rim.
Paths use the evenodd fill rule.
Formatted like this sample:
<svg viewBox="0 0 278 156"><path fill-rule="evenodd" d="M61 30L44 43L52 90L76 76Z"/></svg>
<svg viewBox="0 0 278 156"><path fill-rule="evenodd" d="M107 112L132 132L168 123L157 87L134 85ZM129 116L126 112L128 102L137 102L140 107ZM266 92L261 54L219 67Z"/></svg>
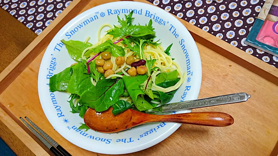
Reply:
<svg viewBox="0 0 278 156"><path fill-rule="evenodd" d="M62 39L84 41L90 36L89 42L94 44L98 40L97 33L102 24L118 25L117 14L124 18L124 14L131 10L134 10L135 24L145 25L153 19L156 39L162 41L164 49L173 43L171 57L175 58L182 72L187 75L171 102L197 99L200 91L202 67L199 51L189 31L170 13L153 5L124 1L99 5L76 16L56 34L43 55L38 78L39 98L47 119L58 133L76 146L96 153L125 154L140 151L161 142L181 125L158 122L140 125L120 133L106 134L91 129L84 132L77 128L80 122L84 123L83 119L70 112L71 108L67 102L69 95L49 91L49 77L75 63L61 43ZM105 32L102 32L102 35L104 34ZM176 113L185 112L191 110Z"/></svg>

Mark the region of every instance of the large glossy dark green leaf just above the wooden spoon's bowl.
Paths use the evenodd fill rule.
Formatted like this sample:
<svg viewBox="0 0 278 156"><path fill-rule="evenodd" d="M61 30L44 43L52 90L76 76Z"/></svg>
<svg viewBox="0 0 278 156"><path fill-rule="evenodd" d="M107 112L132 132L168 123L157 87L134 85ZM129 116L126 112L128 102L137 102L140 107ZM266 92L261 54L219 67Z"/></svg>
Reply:
<svg viewBox="0 0 278 156"><path fill-rule="evenodd" d="M96 112L102 112L115 104L123 92L122 79L101 79L96 86L83 92L78 102L95 109Z"/></svg>

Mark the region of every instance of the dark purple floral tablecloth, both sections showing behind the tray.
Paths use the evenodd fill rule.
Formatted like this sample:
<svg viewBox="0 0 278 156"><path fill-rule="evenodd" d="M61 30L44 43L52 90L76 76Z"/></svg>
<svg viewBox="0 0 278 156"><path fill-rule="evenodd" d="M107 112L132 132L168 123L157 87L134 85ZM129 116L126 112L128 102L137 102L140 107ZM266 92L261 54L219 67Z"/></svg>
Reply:
<svg viewBox="0 0 278 156"><path fill-rule="evenodd" d="M277 57L244 43L265 0L147 1L278 68ZM0 0L0 7L39 35L71 2Z"/></svg>

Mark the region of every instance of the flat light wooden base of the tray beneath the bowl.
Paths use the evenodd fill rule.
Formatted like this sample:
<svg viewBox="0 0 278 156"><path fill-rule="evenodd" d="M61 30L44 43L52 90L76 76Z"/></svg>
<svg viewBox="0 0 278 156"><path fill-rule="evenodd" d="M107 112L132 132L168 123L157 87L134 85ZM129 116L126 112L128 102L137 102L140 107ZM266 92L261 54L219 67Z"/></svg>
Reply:
<svg viewBox="0 0 278 156"><path fill-rule="evenodd" d="M90 1L82 11L108 2L112 0ZM188 23L183 24L188 29L191 28L187 26ZM52 31L49 33L53 35ZM213 39L215 38L210 40ZM199 98L235 92L247 92L251 94L251 98L245 103L193 109L193 112L217 111L231 114L235 119L231 126L204 127L184 124L159 144L127 155L270 155L278 140L278 87L236 64L234 60L231 61L211 50L213 48L209 49L202 45L203 43L196 44L203 72ZM43 53L44 51L27 65L19 77L3 91L0 95L0 107L25 131L28 129L19 121L19 117L28 116L72 155L103 155L86 151L68 142L53 129L45 117L39 102L37 83L34 83L37 82ZM272 73L275 72L276 70L272 70ZM30 145L28 147L33 148Z"/></svg>

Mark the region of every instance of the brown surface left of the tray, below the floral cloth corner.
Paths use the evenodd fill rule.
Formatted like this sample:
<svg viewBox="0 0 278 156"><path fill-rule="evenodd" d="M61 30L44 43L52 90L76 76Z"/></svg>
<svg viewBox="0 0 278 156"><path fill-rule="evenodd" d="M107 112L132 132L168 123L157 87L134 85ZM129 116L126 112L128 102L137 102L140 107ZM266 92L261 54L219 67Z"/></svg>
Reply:
<svg viewBox="0 0 278 156"><path fill-rule="evenodd" d="M0 73L38 36L0 8Z"/></svg>

